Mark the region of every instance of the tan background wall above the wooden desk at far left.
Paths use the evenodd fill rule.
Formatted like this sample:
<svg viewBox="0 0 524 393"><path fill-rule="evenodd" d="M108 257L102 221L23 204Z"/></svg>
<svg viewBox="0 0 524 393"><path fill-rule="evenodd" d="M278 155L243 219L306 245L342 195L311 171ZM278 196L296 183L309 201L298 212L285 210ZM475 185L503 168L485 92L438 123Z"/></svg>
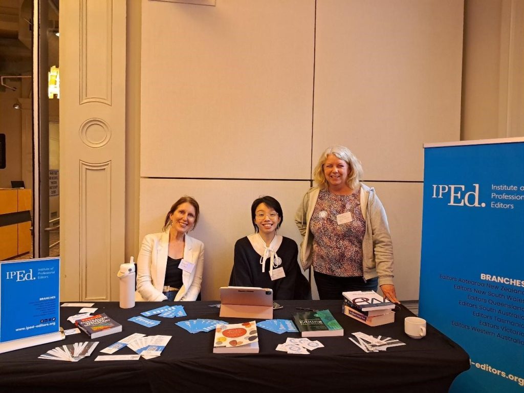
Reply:
<svg viewBox="0 0 524 393"><path fill-rule="evenodd" d="M22 134L21 111L13 108L20 97L20 82L8 80L8 85L16 87L13 91L0 92L0 134L6 139L6 167L0 169L0 188L11 188L11 180L22 180ZM30 188L30 185L26 185Z"/></svg>

